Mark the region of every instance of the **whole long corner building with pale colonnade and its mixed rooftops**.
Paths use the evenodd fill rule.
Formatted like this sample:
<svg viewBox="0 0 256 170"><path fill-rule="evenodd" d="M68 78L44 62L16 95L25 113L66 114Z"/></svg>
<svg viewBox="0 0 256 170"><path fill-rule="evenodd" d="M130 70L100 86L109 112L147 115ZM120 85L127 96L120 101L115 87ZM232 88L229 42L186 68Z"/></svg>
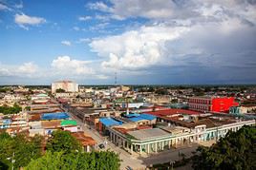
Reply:
<svg viewBox="0 0 256 170"><path fill-rule="evenodd" d="M146 127L142 129L139 129L139 126L129 127L126 126L126 123L107 120L104 128L108 130L111 142L130 154L141 155L157 153L192 143L216 142L224 137L229 130L237 131L243 125L255 125L255 120L238 120L232 116L224 117L224 115L210 114L197 120L178 120L177 123L180 125L172 123L156 128Z"/></svg>

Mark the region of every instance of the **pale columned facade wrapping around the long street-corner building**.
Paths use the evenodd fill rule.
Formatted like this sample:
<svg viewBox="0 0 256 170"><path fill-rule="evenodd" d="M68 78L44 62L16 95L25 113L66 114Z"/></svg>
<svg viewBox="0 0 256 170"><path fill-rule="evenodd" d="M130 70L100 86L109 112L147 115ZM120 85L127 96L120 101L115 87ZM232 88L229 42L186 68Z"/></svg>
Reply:
<svg viewBox="0 0 256 170"><path fill-rule="evenodd" d="M141 155L158 153L165 149L170 149L172 147L176 148L193 143L218 141L220 138L224 137L228 131L238 131L244 125L253 126L255 125L255 120L223 124L211 128L206 128L206 125L202 124L195 126L189 132L179 134L168 134L165 131L154 128L146 129L147 132L143 131L142 133L136 131L127 136L118 132L115 128L108 128L108 130L110 131L111 142L122 147L130 154L137 153ZM156 132L154 133L154 131ZM137 134L136 138L131 138L131 135L135 136L134 134ZM148 134L148 138L144 138L145 134Z"/></svg>

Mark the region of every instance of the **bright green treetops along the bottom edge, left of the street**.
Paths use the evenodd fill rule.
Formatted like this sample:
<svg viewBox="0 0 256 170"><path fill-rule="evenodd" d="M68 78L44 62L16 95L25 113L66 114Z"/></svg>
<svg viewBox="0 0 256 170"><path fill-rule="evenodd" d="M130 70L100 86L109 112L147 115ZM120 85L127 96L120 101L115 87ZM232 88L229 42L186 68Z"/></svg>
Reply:
<svg viewBox="0 0 256 170"><path fill-rule="evenodd" d="M84 170L118 170L120 160L116 153L110 151L65 154L48 151L42 158L31 161L26 170L48 169L84 169Z"/></svg>

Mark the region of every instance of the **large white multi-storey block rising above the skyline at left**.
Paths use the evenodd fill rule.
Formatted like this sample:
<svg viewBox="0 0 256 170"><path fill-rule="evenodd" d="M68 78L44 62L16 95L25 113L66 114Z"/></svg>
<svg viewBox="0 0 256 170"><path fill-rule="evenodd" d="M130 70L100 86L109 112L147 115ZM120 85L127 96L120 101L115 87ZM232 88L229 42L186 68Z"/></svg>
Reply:
<svg viewBox="0 0 256 170"><path fill-rule="evenodd" d="M72 81L58 81L52 84L52 93L56 92L56 89L64 89L66 92L78 92L78 85Z"/></svg>

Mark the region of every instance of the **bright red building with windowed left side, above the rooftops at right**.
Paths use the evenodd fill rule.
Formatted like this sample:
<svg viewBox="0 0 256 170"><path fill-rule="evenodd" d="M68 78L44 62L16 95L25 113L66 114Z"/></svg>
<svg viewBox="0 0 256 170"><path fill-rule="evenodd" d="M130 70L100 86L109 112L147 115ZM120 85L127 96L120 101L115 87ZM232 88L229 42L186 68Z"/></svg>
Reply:
<svg viewBox="0 0 256 170"><path fill-rule="evenodd" d="M229 108L238 103L233 97L191 97L188 105L191 110L228 113Z"/></svg>

